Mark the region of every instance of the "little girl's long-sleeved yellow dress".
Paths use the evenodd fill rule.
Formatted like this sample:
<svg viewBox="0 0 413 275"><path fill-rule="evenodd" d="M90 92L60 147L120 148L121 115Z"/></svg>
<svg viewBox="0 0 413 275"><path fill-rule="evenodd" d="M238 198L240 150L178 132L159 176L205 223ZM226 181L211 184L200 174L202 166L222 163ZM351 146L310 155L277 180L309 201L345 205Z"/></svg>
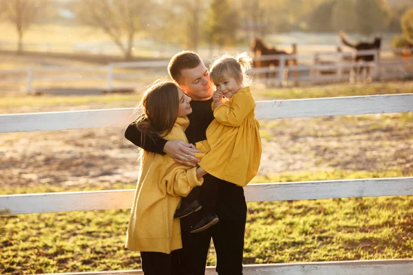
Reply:
<svg viewBox="0 0 413 275"><path fill-rule="evenodd" d="M219 179L246 186L258 173L261 161L260 122L249 87L237 91L213 111L207 140L196 143L199 165Z"/></svg>

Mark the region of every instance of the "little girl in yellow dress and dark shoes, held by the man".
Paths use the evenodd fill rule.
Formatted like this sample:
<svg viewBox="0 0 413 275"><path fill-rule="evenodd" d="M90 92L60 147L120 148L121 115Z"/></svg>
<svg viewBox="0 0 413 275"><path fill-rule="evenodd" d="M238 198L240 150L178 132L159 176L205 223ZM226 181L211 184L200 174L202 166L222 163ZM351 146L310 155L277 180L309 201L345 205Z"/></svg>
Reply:
<svg viewBox="0 0 413 275"><path fill-rule="evenodd" d="M236 57L225 54L212 63L211 80L216 91L211 107L215 119L207 129L207 140L196 144L202 151L195 155L201 158L199 166L214 177L238 186L246 186L257 175L262 153L260 123L254 112L256 104L250 88L244 86L251 62L248 54L243 53ZM192 233L201 232L219 221L214 212L218 189L211 184L201 189L208 201L202 201L203 218L192 226ZM200 188L195 188L183 198L175 217L200 210L199 195Z"/></svg>

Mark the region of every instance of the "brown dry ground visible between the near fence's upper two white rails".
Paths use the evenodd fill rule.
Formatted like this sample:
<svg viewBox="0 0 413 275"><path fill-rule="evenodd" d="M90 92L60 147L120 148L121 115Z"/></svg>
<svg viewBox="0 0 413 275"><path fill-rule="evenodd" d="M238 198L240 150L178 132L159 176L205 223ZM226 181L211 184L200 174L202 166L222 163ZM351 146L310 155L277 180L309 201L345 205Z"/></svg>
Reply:
<svg viewBox="0 0 413 275"><path fill-rule="evenodd" d="M69 109L100 107L105 106L88 104ZM9 111L45 108L13 107ZM54 107L54 111L63 109L68 108ZM413 170L413 113L262 120L261 124L259 175ZM134 182L138 153L136 146L123 137L124 131L120 127L1 134L1 186L63 185L81 190Z"/></svg>

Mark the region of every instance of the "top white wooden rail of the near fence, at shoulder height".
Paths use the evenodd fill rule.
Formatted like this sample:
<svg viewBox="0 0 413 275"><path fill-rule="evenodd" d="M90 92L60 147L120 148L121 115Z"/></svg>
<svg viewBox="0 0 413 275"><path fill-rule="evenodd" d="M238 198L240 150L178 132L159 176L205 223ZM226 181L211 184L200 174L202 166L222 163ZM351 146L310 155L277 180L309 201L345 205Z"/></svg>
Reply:
<svg viewBox="0 0 413 275"><path fill-rule="evenodd" d="M413 111L413 94L270 100L257 102L258 119L310 118ZM125 126L134 108L0 115L0 133Z"/></svg>

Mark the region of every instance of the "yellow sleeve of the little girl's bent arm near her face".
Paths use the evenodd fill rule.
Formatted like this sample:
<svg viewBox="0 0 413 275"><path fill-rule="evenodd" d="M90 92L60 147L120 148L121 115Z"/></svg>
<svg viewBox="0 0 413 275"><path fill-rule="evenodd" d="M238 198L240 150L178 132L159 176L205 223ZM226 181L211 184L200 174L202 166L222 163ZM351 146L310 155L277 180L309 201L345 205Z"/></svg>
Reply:
<svg viewBox="0 0 413 275"><path fill-rule="evenodd" d="M213 111L213 116L221 124L237 127L242 124L256 104L251 91L238 91L233 97L232 102L226 102L218 106Z"/></svg>

